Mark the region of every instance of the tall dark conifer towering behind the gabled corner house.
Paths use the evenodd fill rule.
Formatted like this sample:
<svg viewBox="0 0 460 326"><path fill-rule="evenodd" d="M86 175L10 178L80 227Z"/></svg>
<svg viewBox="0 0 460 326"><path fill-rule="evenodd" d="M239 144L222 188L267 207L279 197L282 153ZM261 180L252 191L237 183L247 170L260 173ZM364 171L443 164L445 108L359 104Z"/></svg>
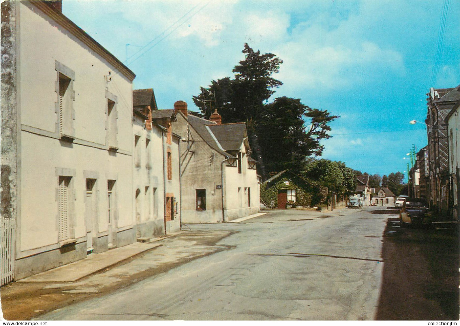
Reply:
<svg viewBox="0 0 460 326"><path fill-rule="evenodd" d="M249 142L263 176L287 168L301 169L307 156L322 154L320 141L330 137L328 123L338 117L305 106L299 99L281 97L267 104L282 85L272 77L282 60L272 53L253 51L247 43L242 52L245 59L232 70L235 78L212 80L209 88L201 87L193 101L206 118L217 107L224 123L247 124Z"/></svg>

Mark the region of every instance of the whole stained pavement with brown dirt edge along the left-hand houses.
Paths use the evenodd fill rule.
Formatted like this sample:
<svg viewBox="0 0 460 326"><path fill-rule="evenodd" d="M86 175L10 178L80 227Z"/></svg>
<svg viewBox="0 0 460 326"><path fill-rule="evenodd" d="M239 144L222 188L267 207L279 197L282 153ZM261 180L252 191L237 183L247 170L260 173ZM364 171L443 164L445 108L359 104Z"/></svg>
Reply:
<svg viewBox="0 0 460 326"><path fill-rule="evenodd" d="M183 230L93 253L86 259L32 275L1 287L7 320L29 320L46 311L112 293L194 259L232 249L219 245L231 230Z"/></svg>

